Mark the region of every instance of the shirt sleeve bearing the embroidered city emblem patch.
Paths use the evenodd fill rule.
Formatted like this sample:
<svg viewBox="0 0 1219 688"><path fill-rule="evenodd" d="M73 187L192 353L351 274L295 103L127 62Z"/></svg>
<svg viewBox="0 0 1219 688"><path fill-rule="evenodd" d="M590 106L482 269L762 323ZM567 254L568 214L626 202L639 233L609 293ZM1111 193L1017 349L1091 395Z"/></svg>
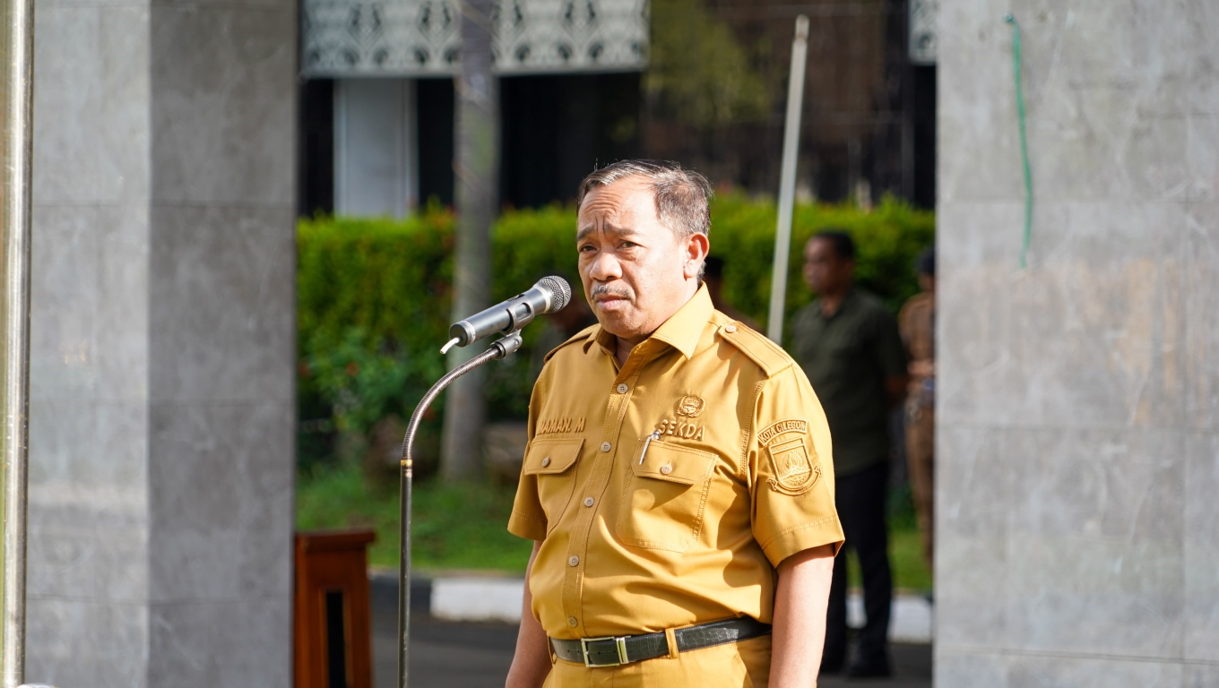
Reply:
<svg viewBox="0 0 1219 688"><path fill-rule="evenodd" d="M814 547L842 546L834 507L834 457L825 413L792 365L768 379L750 437L753 537L770 564Z"/></svg>

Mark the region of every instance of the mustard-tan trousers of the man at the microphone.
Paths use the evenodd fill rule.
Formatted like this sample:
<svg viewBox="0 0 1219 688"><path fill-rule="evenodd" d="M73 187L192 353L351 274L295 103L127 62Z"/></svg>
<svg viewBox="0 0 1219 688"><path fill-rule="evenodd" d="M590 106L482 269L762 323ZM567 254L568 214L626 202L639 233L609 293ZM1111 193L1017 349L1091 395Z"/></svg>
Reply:
<svg viewBox="0 0 1219 688"><path fill-rule="evenodd" d="M761 636L624 666L589 669L560 659L542 688L766 688L769 679L770 636Z"/></svg>

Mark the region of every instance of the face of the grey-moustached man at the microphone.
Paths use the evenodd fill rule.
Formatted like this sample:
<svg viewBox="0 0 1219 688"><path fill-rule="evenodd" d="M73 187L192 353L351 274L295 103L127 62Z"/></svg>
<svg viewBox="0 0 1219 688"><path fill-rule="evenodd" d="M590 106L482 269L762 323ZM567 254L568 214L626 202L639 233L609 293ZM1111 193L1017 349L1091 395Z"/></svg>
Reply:
<svg viewBox="0 0 1219 688"><path fill-rule="evenodd" d="M707 237L661 224L641 178L596 186L580 203L575 250L592 313L610 334L639 343L697 289Z"/></svg>

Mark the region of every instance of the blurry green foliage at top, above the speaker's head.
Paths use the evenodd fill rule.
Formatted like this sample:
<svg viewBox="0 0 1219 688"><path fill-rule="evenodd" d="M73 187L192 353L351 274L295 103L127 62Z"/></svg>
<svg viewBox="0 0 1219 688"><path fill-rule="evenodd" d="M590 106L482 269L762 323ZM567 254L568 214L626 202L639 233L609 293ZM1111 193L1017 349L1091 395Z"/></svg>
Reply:
<svg viewBox="0 0 1219 688"><path fill-rule="evenodd" d="M764 79L727 22L701 0L653 0L645 93L698 129L752 122L770 112Z"/></svg>

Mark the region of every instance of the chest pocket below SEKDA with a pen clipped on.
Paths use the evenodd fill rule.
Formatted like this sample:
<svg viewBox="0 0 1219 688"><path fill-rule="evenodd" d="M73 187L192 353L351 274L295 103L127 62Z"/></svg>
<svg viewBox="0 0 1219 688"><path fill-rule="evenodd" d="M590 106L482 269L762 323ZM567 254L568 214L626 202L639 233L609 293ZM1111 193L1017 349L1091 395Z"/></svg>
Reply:
<svg viewBox="0 0 1219 688"><path fill-rule="evenodd" d="M631 455L618 537L633 547L685 552L702 530L716 455L652 441L640 464L642 449L640 441Z"/></svg>

